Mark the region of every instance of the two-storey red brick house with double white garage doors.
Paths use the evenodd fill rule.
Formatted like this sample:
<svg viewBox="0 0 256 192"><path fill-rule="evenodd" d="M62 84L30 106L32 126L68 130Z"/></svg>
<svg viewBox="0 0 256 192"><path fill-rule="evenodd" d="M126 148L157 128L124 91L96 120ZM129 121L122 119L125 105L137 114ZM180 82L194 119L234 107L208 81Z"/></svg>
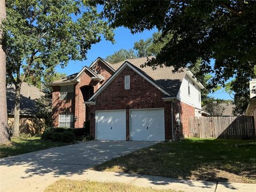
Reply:
<svg viewBox="0 0 256 192"><path fill-rule="evenodd" d="M149 57L150 59L151 57ZM201 116L203 85L190 70L141 68L148 58L90 67L50 84L53 125L83 127L97 140L170 140L189 135L189 117Z"/></svg>

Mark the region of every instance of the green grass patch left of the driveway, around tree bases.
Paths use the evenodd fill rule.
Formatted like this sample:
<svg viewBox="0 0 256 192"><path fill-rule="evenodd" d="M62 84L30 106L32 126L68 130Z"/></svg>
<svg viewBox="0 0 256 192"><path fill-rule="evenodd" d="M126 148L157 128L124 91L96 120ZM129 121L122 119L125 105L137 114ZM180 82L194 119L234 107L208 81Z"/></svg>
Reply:
<svg viewBox="0 0 256 192"><path fill-rule="evenodd" d="M12 138L11 143L0 145L0 158L69 144L70 143L45 141L39 137L31 137L28 139Z"/></svg>

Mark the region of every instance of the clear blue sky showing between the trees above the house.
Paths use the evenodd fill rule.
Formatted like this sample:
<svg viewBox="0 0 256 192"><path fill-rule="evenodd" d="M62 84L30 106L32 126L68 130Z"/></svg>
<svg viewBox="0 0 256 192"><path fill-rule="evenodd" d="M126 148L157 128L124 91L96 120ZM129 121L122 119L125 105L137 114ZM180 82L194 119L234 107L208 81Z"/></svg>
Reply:
<svg viewBox="0 0 256 192"><path fill-rule="evenodd" d="M60 73L66 73L67 75L77 73L84 66L90 66L90 64L98 57L106 58L108 55L111 55L120 49L132 49L134 42L151 37L156 30L146 30L143 31L143 33L133 35L129 29L119 27L114 32L115 44L112 44L103 38L101 42L92 45L91 50L87 53L87 60L69 61L67 67L63 69L61 67L57 67L57 71ZM231 99L229 94L227 94L223 89L210 95L218 99Z"/></svg>

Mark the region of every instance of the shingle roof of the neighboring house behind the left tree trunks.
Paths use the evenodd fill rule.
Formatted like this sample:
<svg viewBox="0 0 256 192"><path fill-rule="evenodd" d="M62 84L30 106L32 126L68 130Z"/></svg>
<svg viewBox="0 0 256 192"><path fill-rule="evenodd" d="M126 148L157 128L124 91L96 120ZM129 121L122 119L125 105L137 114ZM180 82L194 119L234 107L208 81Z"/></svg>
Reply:
<svg viewBox="0 0 256 192"><path fill-rule="evenodd" d="M33 85L26 82L21 84L20 90L20 114L35 115L35 101L41 98L44 93ZM29 99L30 97L30 99ZM6 87L7 113L14 114L15 87L14 85Z"/></svg>

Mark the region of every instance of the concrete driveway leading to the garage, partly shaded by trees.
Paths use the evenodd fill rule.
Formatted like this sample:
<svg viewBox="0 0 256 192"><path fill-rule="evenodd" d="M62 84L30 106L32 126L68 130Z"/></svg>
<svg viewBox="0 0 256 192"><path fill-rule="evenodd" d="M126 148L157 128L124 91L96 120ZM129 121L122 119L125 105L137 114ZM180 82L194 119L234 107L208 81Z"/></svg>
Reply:
<svg viewBox="0 0 256 192"><path fill-rule="evenodd" d="M94 165L155 143L89 141L2 158L0 191L43 191L60 177L88 174Z"/></svg>

